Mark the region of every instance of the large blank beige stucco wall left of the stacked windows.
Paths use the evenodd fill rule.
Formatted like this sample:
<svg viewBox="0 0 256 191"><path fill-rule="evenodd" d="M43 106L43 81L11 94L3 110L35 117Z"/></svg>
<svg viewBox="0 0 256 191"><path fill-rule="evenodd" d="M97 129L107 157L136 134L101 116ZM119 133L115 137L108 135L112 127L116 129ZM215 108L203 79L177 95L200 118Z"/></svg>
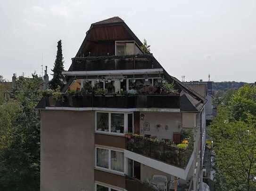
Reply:
<svg viewBox="0 0 256 191"><path fill-rule="evenodd" d="M93 191L94 112L40 113L41 191Z"/></svg>

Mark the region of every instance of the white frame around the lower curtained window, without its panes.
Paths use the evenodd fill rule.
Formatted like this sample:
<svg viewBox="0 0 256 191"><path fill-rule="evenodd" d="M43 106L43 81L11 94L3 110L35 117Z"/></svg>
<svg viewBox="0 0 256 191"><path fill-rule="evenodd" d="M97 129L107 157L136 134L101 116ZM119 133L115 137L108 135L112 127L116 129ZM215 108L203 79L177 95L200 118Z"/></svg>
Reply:
<svg viewBox="0 0 256 191"><path fill-rule="evenodd" d="M97 166L97 149L98 148L108 150L108 168ZM126 158L124 157L124 172L121 172L121 171L118 171L118 170L113 170L113 169L111 169L111 151L124 153L124 151L121 151L121 150L109 149L109 148L104 148L104 147L99 147L99 146L95 147L95 168L102 169L102 170L107 170L109 172L113 172L113 173L120 174L120 175L124 175L125 174Z"/></svg>

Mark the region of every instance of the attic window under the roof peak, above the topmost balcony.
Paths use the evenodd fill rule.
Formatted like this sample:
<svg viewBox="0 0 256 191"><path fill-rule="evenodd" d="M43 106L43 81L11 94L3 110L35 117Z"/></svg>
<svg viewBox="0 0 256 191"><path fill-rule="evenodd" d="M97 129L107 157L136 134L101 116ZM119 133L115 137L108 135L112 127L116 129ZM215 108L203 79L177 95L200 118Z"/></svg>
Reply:
<svg viewBox="0 0 256 191"><path fill-rule="evenodd" d="M141 54L135 41L116 41L116 56Z"/></svg>

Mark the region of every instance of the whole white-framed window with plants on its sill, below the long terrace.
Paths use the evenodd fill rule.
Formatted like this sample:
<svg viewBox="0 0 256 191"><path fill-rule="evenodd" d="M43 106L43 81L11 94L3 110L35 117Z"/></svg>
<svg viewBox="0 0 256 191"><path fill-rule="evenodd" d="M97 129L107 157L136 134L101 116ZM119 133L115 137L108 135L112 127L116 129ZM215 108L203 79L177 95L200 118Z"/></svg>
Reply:
<svg viewBox="0 0 256 191"><path fill-rule="evenodd" d="M133 132L133 113L96 112L96 131L124 135Z"/></svg>

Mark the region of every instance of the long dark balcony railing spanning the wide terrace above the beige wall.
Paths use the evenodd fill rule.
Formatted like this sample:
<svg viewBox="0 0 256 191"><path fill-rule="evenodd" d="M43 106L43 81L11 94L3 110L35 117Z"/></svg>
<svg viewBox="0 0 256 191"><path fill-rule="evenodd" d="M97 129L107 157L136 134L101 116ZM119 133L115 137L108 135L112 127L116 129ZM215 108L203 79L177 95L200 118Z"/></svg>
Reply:
<svg viewBox="0 0 256 191"><path fill-rule="evenodd" d="M136 94L67 96L63 100L54 101L52 97L45 97L46 107L109 107L109 108L180 108L179 94L152 95Z"/></svg>

